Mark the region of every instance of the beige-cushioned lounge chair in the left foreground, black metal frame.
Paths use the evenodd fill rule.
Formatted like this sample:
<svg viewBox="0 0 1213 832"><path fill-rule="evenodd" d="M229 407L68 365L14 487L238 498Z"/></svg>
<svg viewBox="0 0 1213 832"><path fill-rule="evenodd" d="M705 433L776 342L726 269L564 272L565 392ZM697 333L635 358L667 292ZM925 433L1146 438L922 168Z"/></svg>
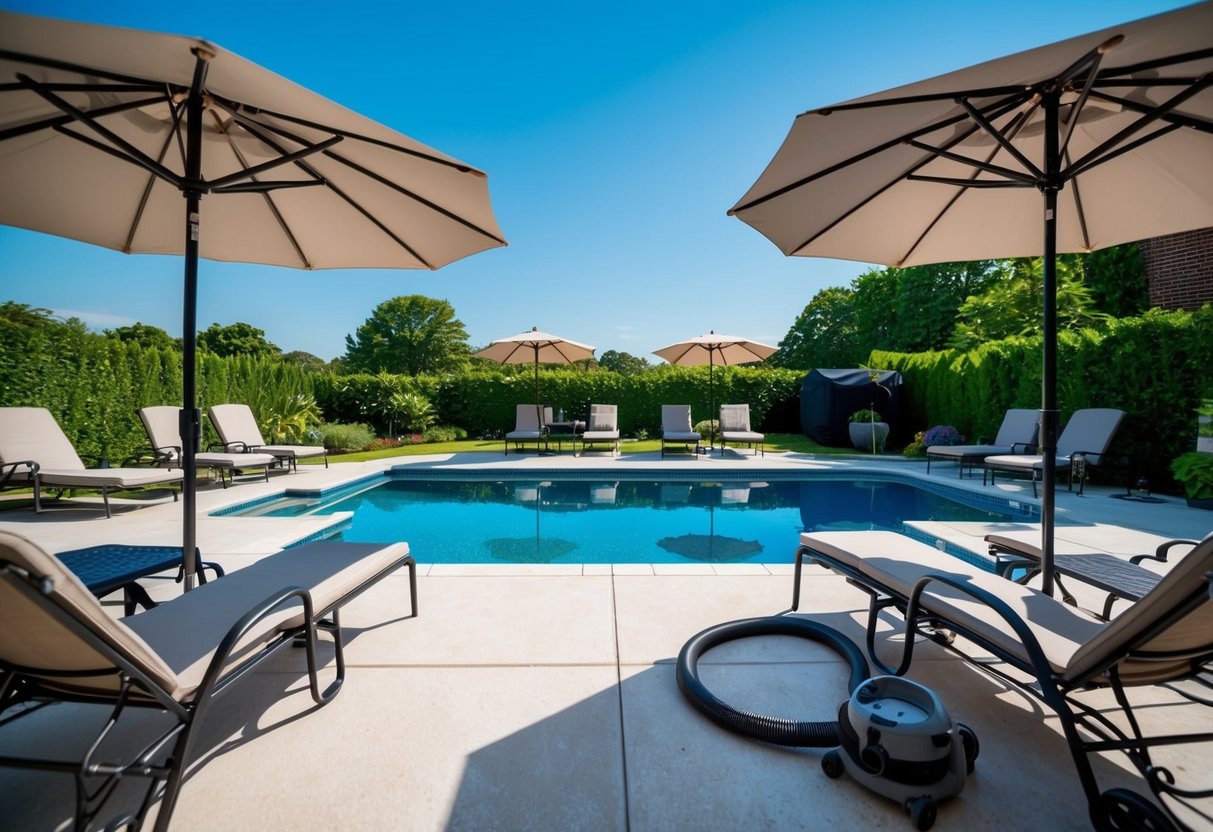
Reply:
<svg viewBox="0 0 1213 832"><path fill-rule="evenodd" d="M416 565L408 545L321 541L269 555L153 610L116 620L57 558L25 537L0 532L0 723L38 718L38 706L53 702L107 705L113 723L99 730L92 747L84 737L84 759L47 760L44 748L22 756L10 745L0 767L74 774L75 830L138 828L164 783L155 828L165 830L190 763L195 729L210 710L228 705L221 696L251 676L249 671L301 643L312 699L318 705L331 700L346 671L341 606L404 565L416 616ZM334 644L335 679L323 690L317 629L329 632ZM230 706L246 707L239 701ZM141 711L164 716L142 719ZM131 712L133 722L124 719ZM131 735L123 748L135 750L115 760L121 750L103 747L103 740L113 725L121 730L127 722L129 734L142 734ZM146 745L136 747L143 740ZM290 768L280 774L285 786ZM107 807L120 782L139 779L147 788L137 808Z"/></svg>

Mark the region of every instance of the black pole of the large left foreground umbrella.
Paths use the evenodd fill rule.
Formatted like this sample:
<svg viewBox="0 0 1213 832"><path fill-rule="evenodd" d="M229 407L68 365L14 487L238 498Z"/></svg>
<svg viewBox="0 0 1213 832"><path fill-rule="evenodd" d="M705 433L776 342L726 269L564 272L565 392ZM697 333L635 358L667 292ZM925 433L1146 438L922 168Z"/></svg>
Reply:
<svg viewBox="0 0 1213 832"><path fill-rule="evenodd" d="M194 588L194 549L198 546L198 441L201 415L198 411L195 355L198 347L198 235L201 211L203 178L203 84L210 56L194 51L194 80L186 103L186 285L181 325L181 557L184 591Z"/></svg>

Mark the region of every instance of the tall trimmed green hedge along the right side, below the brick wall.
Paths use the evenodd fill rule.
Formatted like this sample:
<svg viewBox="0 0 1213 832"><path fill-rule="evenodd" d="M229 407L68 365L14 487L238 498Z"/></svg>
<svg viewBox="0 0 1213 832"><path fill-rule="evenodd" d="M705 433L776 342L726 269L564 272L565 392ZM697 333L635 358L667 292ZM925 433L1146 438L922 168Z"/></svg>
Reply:
<svg viewBox="0 0 1213 832"><path fill-rule="evenodd" d="M1196 408L1213 395L1213 306L1150 310L1101 330L1063 332L1058 408L1064 429L1082 408L1126 411L1114 445L1134 475L1173 484L1169 462L1192 450ZM1009 338L970 352L876 351L871 366L899 370L916 429L952 424L970 440L993 437L1008 408L1041 406L1041 340ZM1123 477L1123 474L1121 474Z"/></svg>

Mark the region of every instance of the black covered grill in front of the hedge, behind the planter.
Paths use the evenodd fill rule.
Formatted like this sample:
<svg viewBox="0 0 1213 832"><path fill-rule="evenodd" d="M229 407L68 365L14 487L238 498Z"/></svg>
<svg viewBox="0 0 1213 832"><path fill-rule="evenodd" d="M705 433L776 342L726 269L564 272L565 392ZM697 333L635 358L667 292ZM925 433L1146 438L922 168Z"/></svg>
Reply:
<svg viewBox="0 0 1213 832"><path fill-rule="evenodd" d="M889 423L889 445L906 441L901 374L877 370L814 370L801 387L801 428L819 445L850 445L847 424L856 410L871 408ZM884 388L884 389L881 389Z"/></svg>

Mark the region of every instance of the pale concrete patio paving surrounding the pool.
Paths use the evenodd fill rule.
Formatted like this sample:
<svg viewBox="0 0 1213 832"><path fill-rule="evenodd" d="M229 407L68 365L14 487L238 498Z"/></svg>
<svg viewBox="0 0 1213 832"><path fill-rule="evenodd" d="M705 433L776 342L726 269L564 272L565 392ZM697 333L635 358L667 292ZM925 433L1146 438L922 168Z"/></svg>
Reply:
<svg viewBox="0 0 1213 832"><path fill-rule="evenodd" d="M200 492L204 512L283 488L323 488L389 465L563 467L619 472L653 468L705 473L765 469L882 468L924 475L924 465L861 458L729 454L723 460L569 455L406 457L385 463L303 466L269 484ZM956 469L932 479L955 484ZM981 489L980 481L966 488ZM1030 502L1023 483L1001 490ZM989 488L986 489L989 492ZM1150 551L1171 537L1198 537L1208 512L1177 498L1135 503L1111 489L1078 497L1058 491L1058 547L1118 554ZM0 513L15 530L64 551L98 542L180 542L180 505L159 501L106 520L95 509L34 515ZM317 518L200 517L209 559L235 569L315 532ZM924 524L922 534L984 552L989 524ZM1023 524L997 524L1000 531ZM315 708L301 651L279 656L211 712L173 815L175 830L814 830L910 828L890 800L843 777L828 780L819 750L788 750L728 734L690 708L674 683L674 657L714 623L784 612L791 557L768 565L421 565L420 615L408 609L408 577L394 575L342 615L347 680ZM153 582L153 594L180 592ZM1075 587L1071 586L1074 589ZM866 595L810 568L801 611L862 643ZM1098 609L1095 597L1080 597ZM120 614L118 599L107 605ZM887 620L889 650L895 620ZM885 653L890 655L890 653ZM933 644L916 653L911 678L933 688L981 741L976 770L940 805L936 828L1087 828L1086 800L1058 720L1021 694ZM845 671L824 648L775 637L728 644L701 663L702 678L738 707L791 719L832 719L845 699ZM1106 693L1092 701L1112 703ZM1213 731L1213 710L1152 688L1135 690L1147 726ZM0 750L79 742L81 725L103 718L56 706L0 729ZM1173 747L1160 760L1181 782L1208 786L1209 747ZM1103 788L1145 787L1121 756L1099 760ZM0 771L5 825L66 828L69 777ZM1203 805L1213 813L1208 802ZM1209 815L1190 816L1208 828Z"/></svg>

